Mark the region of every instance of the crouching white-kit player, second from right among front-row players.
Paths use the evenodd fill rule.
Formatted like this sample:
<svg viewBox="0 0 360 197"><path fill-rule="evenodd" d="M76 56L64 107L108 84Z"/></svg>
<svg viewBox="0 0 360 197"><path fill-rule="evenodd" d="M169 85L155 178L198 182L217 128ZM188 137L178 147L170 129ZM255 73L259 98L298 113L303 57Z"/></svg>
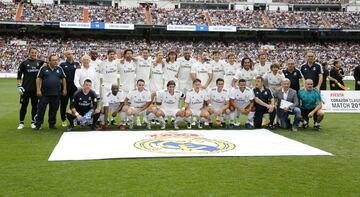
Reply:
<svg viewBox="0 0 360 197"><path fill-rule="evenodd" d="M209 91L209 108L211 114L209 127L212 127L213 116L216 116L216 124L221 127L226 126L227 116L230 114L229 109L229 93L224 89L224 79L218 78L216 80L216 87Z"/></svg>

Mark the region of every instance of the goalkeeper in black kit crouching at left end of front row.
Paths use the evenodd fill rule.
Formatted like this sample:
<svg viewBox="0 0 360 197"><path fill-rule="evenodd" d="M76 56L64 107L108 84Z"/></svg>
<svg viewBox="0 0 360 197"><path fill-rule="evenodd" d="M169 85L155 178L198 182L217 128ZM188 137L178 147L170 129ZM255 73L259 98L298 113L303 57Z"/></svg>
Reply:
<svg viewBox="0 0 360 197"><path fill-rule="evenodd" d="M100 116L100 110L97 106L96 94L91 90L91 80L86 79L83 87L75 92L70 103L70 109L66 112L67 119L70 122L68 131L74 128L74 121L80 125L90 125L91 130L95 130L96 122ZM92 123L90 124L90 122Z"/></svg>

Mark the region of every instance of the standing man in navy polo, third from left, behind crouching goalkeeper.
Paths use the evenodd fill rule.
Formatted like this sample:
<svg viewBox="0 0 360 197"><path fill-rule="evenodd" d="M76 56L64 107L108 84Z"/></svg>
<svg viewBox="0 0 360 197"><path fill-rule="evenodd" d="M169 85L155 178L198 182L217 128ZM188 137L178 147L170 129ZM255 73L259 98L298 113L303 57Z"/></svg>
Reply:
<svg viewBox="0 0 360 197"><path fill-rule="evenodd" d="M71 50L65 51L64 55L66 57L66 61L60 64L60 67L64 70L66 75L66 84L67 84L67 92L66 96L60 97L60 115L62 120L62 126L66 127L66 108L68 106L69 100L72 99L74 93L77 91L77 87L74 83L75 71L80 68L79 62L74 61L74 55Z"/></svg>

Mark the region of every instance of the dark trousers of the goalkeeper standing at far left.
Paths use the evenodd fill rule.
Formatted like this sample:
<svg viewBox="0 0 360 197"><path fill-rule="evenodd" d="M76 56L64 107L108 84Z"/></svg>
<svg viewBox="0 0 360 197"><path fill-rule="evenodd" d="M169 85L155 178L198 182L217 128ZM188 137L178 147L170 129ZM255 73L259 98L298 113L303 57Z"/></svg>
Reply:
<svg viewBox="0 0 360 197"><path fill-rule="evenodd" d="M31 121L35 121L35 115L37 112L37 105L39 98L36 96L36 92L26 92L20 96L20 122L24 123L25 115L27 111L27 106L29 104L29 100L31 100Z"/></svg>

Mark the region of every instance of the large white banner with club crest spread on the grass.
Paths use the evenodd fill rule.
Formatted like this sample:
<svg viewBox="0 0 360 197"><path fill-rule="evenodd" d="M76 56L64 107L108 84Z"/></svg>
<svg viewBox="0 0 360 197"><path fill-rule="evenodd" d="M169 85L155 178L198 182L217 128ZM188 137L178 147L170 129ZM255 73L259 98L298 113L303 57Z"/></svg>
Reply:
<svg viewBox="0 0 360 197"><path fill-rule="evenodd" d="M196 156L332 155L258 130L67 132L49 161Z"/></svg>

